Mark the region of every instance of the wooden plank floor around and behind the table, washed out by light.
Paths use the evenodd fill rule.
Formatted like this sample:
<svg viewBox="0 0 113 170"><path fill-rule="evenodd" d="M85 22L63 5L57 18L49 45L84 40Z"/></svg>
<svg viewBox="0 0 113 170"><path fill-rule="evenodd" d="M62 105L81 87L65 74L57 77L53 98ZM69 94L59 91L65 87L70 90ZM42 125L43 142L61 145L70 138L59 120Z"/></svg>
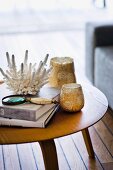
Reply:
<svg viewBox="0 0 113 170"><path fill-rule="evenodd" d="M50 57L71 56L75 73L84 74L85 38L83 31L11 34L0 36L0 67L5 52L23 58L29 50L32 62L38 62L47 53ZM0 75L1 76L1 75ZM112 170L113 169L113 117L107 111L104 118L89 128L95 159L88 157L81 132L55 139L60 170ZM39 144L28 143L0 146L0 170L44 170Z"/></svg>

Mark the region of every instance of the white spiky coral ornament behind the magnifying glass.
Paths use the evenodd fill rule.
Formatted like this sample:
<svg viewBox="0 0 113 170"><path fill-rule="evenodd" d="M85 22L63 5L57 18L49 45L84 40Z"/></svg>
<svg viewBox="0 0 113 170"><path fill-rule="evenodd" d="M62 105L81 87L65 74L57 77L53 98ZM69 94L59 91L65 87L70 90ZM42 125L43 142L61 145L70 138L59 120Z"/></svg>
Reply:
<svg viewBox="0 0 113 170"><path fill-rule="evenodd" d="M48 76L50 69L46 69L46 63L48 54L44 61L40 61L36 68L36 63L28 63L28 50L25 52L24 62L21 63L20 69L17 70L15 56L9 57L9 53L6 53L8 70L6 72L0 68L0 72L4 76L4 81L8 85L8 88L13 91L14 94L22 95L35 95L40 88L48 83Z"/></svg>

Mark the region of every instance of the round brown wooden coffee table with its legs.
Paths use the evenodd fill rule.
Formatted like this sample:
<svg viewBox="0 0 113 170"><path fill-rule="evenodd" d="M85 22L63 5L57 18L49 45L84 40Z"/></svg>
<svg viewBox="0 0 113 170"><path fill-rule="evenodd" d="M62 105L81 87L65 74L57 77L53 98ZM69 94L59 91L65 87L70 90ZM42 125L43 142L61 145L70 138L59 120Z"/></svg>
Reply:
<svg viewBox="0 0 113 170"><path fill-rule="evenodd" d="M108 101L105 95L92 85L84 85L84 108L68 113L60 110L46 128L0 127L0 144L19 144L38 141L43 153L46 170L58 170L54 139L82 131L89 156L94 157L88 127L98 122L106 113Z"/></svg>

